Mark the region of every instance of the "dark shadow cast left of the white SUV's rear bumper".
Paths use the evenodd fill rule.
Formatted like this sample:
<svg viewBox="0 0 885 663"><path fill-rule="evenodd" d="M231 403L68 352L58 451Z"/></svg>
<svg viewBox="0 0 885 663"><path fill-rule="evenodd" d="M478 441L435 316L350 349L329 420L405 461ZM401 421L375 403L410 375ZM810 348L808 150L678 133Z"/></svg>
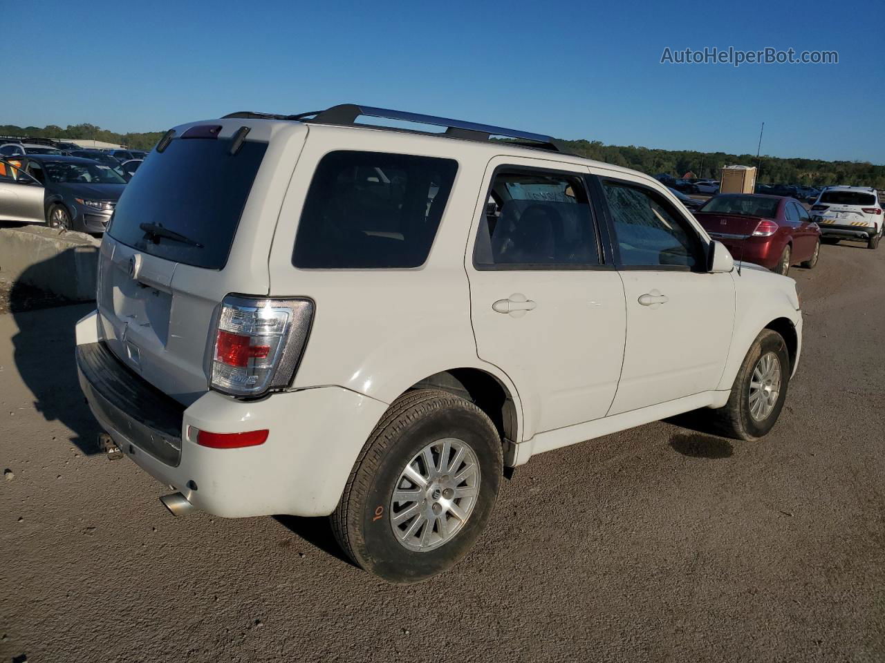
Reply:
<svg viewBox="0 0 885 663"><path fill-rule="evenodd" d="M69 438L84 454L99 453L98 423L89 411L74 362L74 325L94 303L66 301L31 283L35 273L64 273L67 256L56 255L23 271L9 293L10 310L18 327L12 337L16 369L34 397L34 407L48 422L73 432Z"/></svg>

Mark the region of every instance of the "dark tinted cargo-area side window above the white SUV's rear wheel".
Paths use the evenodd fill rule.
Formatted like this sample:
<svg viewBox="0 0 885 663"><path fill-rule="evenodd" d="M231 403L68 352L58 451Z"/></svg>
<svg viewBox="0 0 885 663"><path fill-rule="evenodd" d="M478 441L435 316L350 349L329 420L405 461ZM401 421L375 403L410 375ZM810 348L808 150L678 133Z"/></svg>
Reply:
<svg viewBox="0 0 885 663"><path fill-rule="evenodd" d="M307 192L292 263L301 269L419 267L456 171L452 159L330 152Z"/></svg>

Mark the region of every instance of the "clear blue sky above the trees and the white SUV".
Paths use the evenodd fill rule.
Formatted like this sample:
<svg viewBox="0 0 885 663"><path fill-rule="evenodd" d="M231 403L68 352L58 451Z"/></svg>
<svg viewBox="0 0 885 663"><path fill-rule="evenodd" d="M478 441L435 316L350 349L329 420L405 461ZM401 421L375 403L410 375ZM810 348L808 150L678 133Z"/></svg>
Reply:
<svg viewBox="0 0 885 663"><path fill-rule="evenodd" d="M0 69L0 124L159 131L233 110L353 102L566 139L735 153L755 153L765 121L764 154L885 163L881 0L0 0L0 24L7 35L40 35ZM660 64L666 47L728 46L837 50L839 64Z"/></svg>

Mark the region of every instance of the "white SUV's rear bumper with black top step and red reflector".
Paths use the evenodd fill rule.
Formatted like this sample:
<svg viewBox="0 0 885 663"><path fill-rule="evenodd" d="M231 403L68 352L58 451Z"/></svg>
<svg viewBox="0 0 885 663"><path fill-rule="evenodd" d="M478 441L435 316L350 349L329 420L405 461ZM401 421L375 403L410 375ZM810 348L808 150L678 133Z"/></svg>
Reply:
<svg viewBox="0 0 885 663"><path fill-rule="evenodd" d="M95 339L81 343L81 326L88 327L94 316L90 314L78 324L81 387L98 423L142 469L174 486L195 507L223 517L327 515L335 510L350 470L387 409L386 403L342 387L325 386L275 393L256 401L206 392L189 408L182 408L174 401L164 401L163 394L119 362L118 367L104 366L104 372L115 374L112 379L96 377L96 371L81 359L96 354L96 345L104 345ZM120 385L121 381L129 385L127 394L132 398L127 394L115 398L109 393L109 385ZM158 400L145 404L140 399L146 393ZM166 412L160 414L163 403ZM169 430L170 421L177 422L177 431ZM193 429L267 429L270 434L260 446L211 449L196 444ZM180 447L177 453L158 453L158 444L176 443Z"/></svg>

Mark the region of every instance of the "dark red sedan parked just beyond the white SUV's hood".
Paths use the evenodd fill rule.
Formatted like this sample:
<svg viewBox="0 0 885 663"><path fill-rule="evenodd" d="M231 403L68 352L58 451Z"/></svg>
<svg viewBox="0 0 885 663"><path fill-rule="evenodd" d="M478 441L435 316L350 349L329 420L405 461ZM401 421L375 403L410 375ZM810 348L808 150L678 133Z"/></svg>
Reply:
<svg viewBox="0 0 885 663"><path fill-rule="evenodd" d="M794 198L720 194L695 212L714 240L743 260L787 275L790 265L812 269L820 255L820 228Z"/></svg>

